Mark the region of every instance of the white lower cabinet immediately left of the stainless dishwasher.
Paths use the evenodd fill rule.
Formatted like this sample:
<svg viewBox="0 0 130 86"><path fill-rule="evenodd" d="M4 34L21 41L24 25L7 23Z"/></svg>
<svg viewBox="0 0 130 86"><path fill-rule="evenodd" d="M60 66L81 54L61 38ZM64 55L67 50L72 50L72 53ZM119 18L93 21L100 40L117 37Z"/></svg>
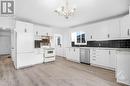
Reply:
<svg viewBox="0 0 130 86"><path fill-rule="evenodd" d="M79 48L66 48L66 58L74 62L80 62Z"/></svg>

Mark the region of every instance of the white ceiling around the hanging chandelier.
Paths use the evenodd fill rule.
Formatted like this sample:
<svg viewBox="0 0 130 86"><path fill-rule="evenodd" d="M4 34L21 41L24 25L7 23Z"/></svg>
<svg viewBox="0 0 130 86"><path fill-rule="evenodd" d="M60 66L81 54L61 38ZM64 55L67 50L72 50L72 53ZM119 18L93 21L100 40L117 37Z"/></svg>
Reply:
<svg viewBox="0 0 130 86"><path fill-rule="evenodd" d="M39 24L55 27L70 27L128 12L130 0L70 0L77 10L74 16L65 19L54 10L62 0L15 0L16 16Z"/></svg>

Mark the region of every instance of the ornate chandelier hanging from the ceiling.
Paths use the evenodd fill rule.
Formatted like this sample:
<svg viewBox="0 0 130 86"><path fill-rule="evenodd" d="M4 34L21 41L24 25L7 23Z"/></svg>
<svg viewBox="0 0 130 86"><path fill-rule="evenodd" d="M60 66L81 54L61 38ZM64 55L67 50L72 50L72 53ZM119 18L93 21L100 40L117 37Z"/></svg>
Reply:
<svg viewBox="0 0 130 86"><path fill-rule="evenodd" d="M70 16L73 16L76 11L76 8L69 8L68 0L65 1L65 6L61 6L57 8L54 12L56 12L59 16L64 16L68 19Z"/></svg>

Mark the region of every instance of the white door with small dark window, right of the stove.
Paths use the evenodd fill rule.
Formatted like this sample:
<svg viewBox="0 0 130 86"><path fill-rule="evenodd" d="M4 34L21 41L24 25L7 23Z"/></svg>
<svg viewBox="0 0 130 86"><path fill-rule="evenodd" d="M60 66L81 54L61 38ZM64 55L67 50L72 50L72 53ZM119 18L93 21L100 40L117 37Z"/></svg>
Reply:
<svg viewBox="0 0 130 86"><path fill-rule="evenodd" d="M56 55L58 56L63 56L64 57L64 48L62 45L62 35L61 34L55 34L55 50L56 50Z"/></svg>

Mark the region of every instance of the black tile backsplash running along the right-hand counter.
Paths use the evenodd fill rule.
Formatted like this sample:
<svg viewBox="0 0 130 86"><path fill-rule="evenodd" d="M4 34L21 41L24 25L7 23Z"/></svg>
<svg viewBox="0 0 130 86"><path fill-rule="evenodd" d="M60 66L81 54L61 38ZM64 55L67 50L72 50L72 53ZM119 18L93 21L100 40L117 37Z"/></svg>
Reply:
<svg viewBox="0 0 130 86"><path fill-rule="evenodd" d="M87 45L75 45L72 47L106 47L106 48L130 48L130 39L123 40L105 40L105 41L88 41Z"/></svg>

